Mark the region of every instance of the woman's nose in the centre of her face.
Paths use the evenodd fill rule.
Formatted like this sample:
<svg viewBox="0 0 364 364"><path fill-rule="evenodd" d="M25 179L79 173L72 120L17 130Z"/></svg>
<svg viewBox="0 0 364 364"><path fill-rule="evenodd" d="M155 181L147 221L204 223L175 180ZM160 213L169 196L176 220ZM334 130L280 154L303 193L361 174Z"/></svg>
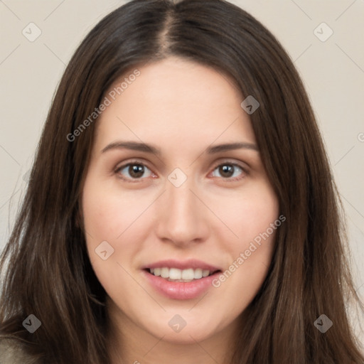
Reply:
<svg viewBox="0 0 364 364"><path fill-rule="evenodd" d="M166 181L166 191L156 206L156 233L161 241L183 247L208 238L212 214L192 180L187 178L179 187Z"/></svg>

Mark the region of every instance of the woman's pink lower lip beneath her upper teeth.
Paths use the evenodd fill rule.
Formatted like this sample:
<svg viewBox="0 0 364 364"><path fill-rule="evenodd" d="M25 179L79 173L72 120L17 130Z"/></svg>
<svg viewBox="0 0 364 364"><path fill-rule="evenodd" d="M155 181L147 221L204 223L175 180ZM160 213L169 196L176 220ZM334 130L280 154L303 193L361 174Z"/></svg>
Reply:
<svg viewBox="0 0 364 364"><path fill-rule="evenodd" d="M156 277L154 274L144 270L146 279L151 286L160 294L170 299L196 299L212 286L213 279L218 277L221 272L216 272L208 277L194 279L191 282L171 282L164 278Z"/></svg>

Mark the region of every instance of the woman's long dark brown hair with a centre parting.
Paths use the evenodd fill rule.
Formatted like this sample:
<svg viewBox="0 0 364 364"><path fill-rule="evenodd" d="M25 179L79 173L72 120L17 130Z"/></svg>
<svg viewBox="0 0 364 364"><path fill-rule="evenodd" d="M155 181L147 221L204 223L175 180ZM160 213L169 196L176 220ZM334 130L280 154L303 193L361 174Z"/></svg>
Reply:
<svg viewBox="0 0 364 364"><path fill-rule="evenodd" d="M346 237L309 99L272 33L223 0L134 0L106 16L75 51L45 122L26 196L1 255L2 337L45 363L109 363L105 290L78 219L95 122L72 134L109 86L136 65L168 55L208 65L252 95L250 115L269 179L287 218L272 264L247 307L233 364L357 363L346 306L356 300ZM30 314L41 328L28 333ZM333 326L321 333L325 314Z"/></svg>

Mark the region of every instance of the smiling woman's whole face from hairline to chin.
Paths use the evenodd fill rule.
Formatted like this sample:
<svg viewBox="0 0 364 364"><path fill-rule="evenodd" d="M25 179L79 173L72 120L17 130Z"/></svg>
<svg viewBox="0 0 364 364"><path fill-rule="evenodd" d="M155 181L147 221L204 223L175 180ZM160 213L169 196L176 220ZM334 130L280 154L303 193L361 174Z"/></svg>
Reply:
<svg viewBox="0 0 364 364"><path fill-rule="evenodd" d="M277 196L232 82L178 58L138 71L97 119L87 250L121 331L202 341L236 328L261 287Z"/></svg>

